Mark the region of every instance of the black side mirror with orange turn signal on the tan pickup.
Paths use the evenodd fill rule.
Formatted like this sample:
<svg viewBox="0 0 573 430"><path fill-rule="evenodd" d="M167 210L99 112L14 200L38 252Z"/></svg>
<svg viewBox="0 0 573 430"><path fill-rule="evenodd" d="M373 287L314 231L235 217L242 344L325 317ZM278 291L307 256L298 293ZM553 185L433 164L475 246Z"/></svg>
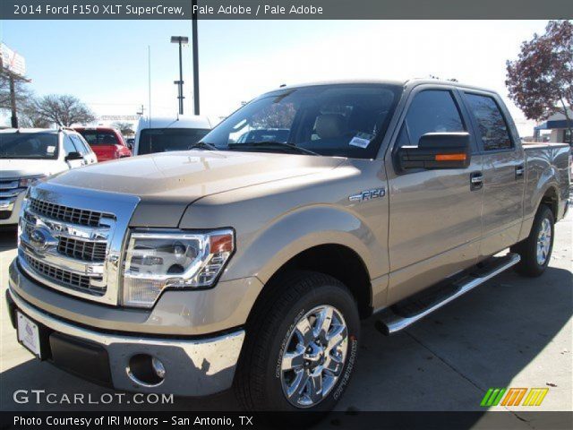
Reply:
<svg viewBox="0 0 573 430"><path fill-rule="evenodd" d="M418 146L398 149L398 165L410 168L467 168L471 159L469 133L425 133Z"/></svg>

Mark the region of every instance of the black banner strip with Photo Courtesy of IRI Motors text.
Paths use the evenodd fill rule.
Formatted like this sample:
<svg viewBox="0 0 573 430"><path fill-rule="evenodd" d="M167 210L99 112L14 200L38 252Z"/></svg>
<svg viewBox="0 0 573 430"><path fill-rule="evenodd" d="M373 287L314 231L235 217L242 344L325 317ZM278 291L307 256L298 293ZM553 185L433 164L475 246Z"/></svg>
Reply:
<svg viewBox="0 0 573 430"><path fill-rule="evenodd" d="M330 429L491 429L570 430L573 412L1 412L2 428L163 429L313 428Z"/></svg>

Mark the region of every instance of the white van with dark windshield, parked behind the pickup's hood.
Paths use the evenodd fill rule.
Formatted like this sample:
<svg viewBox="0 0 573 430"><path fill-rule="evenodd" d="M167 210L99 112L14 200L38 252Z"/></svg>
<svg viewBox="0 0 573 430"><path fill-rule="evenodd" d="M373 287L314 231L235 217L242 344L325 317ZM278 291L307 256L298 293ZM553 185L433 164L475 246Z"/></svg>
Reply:
<svg viewBox="0 0 573 430"><path fill-rule="evenodd" d="M210 132L206 116L141 118L135 133L135 155L187 150Z"/></svg>

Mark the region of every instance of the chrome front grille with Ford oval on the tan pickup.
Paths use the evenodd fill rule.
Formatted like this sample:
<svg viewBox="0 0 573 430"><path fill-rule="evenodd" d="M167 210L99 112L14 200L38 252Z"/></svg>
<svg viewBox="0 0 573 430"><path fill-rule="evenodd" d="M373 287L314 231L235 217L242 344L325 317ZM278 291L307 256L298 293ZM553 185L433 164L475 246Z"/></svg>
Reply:
<svg viewBox="0 0 573 430"><path fill-rule="evenodd" d="M21 269L46 288L118 305L124 238L139 201L51 181L31 185L20 219Z"/></svg>

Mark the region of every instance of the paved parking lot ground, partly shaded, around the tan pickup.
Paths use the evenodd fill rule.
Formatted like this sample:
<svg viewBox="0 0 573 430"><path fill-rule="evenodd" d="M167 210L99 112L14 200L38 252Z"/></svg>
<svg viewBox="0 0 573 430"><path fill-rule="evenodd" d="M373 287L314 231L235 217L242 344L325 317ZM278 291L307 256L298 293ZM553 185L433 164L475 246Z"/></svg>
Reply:
<svg viewBox="0 0 573 430"><path fill-rule="evenodd" d="M503 273L392 337L376 331L373 320L364 322L354 379L338 409L480 410L490 387L543 387L550 391L536 410L573 410L572 227L569 211L556 227L552 261L541 278ZM228 392L201 400L175 399L173 405L16 403L16 390L83 393L92 399L111 391L38 362L17 343L4 304L8 265L15 254L15 232L0 231L2 410L237 408ZM517 420L524 410L514 407L510 419ZM524 423L524 428L530 427Z"/></svg>

